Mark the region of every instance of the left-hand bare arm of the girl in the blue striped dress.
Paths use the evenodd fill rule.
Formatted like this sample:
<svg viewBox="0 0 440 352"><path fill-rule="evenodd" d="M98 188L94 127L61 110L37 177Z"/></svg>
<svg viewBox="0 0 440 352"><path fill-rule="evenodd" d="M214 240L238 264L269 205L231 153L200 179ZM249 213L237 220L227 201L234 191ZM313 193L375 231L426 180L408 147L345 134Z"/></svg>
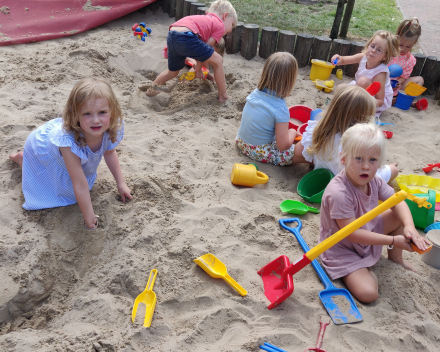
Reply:
<svg viewBox="0 0 440 352"><path fill-rule="evenodd" d="M72 153L70 147L60 147L61 154L66 164L67 172L72 179L73 191L76 201L84 217L88 228L95 228L96 216L93 211L92 200L90 199L89 185L81 167L81 161L77 155Z"/></svg>

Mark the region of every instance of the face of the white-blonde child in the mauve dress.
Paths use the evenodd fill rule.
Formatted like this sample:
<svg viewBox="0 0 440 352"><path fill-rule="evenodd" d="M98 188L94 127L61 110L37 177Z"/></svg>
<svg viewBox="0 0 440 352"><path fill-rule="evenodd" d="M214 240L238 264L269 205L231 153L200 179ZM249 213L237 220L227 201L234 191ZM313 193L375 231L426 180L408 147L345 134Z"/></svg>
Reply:
<svg viewBox="0 0 440 352"><path fill-rule="evenodd" d="M373 147L368 149L363 156L352 156L350 160L348 160L348 156L343 157L341 163L345 166L345 174L350 182L366 193L368 183L376 175L379 158L378 148Z"/></svg>

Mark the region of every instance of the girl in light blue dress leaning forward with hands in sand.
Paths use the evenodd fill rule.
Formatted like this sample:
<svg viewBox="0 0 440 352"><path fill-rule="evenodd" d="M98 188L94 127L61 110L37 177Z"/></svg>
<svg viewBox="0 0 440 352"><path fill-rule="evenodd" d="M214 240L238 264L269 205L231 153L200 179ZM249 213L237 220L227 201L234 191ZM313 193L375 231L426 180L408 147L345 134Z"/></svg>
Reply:
<svg viewBox="0 0 440 352"><path fill-rule="evenodd" d="M62 118L48 121L9 157L23 168L23 208L37 210L78 202L88 230L98 227L90 189L102 156L123 202L132 199L115 147L122 140L122 110L110 85L85 78L72 89Z"/></svg>

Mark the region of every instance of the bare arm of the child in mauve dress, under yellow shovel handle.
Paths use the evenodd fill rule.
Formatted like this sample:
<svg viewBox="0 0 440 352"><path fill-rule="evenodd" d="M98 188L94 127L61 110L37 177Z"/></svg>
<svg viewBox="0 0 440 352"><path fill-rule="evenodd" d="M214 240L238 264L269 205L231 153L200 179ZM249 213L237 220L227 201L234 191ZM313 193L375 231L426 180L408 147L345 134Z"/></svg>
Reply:
<svg viewBox="0 0 440 352"><path fill-rule="evenodd" d="M336 222L340 229L347 226L348 224L355 221L356 218L350 218L350 219L336 219ZM416 231L417 232L417 231ZM380 233L367 231L364 229L358 229L354 231L351 235L347 237L347 239L350 242L359 243L359 244L366 244L366 245L391 245L393 244L396 247L399 247L401 249L405 249L408 252L413 252L413 249L411 248L409 244L409 239L405 238L405 236L397 235L392 238L392 236L389 235L383 235Z"/></svg>

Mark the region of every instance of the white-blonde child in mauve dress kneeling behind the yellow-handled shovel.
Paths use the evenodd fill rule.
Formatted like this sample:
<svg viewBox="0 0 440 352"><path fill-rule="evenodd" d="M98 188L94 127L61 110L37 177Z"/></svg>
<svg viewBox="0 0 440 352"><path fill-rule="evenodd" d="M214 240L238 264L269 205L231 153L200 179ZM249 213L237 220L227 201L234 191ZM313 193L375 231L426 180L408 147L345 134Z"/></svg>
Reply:
<svg viewBox="0 0 440 352"><path fill-rule="evenodd" d="M325 189L321 204L320 242L385 201L394 189L376 176L385 158L385 137L375 124L357 124L342 136L341 163L345 169ZM342 278L361 302L378 297L376 275L370 270L388 245L388 259L413 270L402 259L402 250L413 252L409 241L425 250L429 242L414 227L405 202L386 210L321 254L332 280Z"/></svg>

